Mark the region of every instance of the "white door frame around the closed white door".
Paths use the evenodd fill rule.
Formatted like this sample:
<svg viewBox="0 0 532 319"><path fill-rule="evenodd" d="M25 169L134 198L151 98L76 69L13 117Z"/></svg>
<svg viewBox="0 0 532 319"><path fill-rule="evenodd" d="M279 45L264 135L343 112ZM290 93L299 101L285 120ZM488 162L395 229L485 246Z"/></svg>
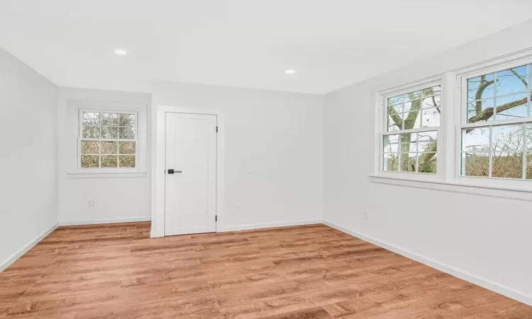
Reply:
<svg viewBox="0 0 532 319"><path fill-rule="evenodd" d="M216 116L216 232L223 225L225 205L225 125L221 111L211 108L159 106L152 112L152 226L151 237L165 236L166 114L184 113ZM153 136L152 135L152 136Z"/></svg>

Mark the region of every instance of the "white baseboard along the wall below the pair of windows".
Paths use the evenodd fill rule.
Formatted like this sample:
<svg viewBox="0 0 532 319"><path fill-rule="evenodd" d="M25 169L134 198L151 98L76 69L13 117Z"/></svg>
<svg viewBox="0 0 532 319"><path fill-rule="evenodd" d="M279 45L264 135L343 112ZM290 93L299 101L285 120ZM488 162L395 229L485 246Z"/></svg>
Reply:
<svg viewBox="0 0 532 319"><path fill-rule="evenodd" d="M526 303L528 306L532 306L532 296L527 295L526 293L522 293L521 291L516 291L515 289L511 289L507 286L494 283L493 281L489 281L487 279L482 279L478 276L475 276L473 274L469 274L467 272L463 272L460 269L456 269L454 267L450 267L447 264L443 264L441 262L437 262L436 260L426 258L423 256L420 256L419 254L416 254L414 252L410 252L409 250L404 250L402 248L399 248L394 245L390 245L386 242L382 242L380 240L377 240L373 237L357 233L353 230L348 230L346 228L343 228L339 225L336 225L335 223L331 223L328 221L323 221L325 225L331 226L332 228L336 228L337 230L342 231L343 233L347 233L349 235L355 236L360 238L361 240L365 240L367 242L371 242L374 245L377 245L379 247L382 247L386 250L389 250L391 252L395 252L396 254L400 254L401 256L407 257L409 259L414 259L416 262L421 262L421 264L426 264L429 267L432 267L434 269L438 269L441 272L445 272L447 274L452 274L455 277L458 277L460 279L463 279L465 281L469 281L472 284L476 284L478 286L481 286L485 289L489 289L491 291L494 291L496 293L500 293L503 296L506 296L508 298L515 299L516 301L520 301L521 303Z"/></svg>

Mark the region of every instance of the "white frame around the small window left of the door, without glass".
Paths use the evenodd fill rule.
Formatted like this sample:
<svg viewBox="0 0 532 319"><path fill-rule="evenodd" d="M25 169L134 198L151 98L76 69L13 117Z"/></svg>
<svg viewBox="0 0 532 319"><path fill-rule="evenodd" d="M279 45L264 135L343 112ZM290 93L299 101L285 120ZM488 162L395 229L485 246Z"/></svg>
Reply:
<svg viewBox="0 0 532 319"><path fill-rule="evenodd" d="M122 178L122 177L145 177L147 174L147 108L145 103L116 102L116 101L67 101L67 117L72 119L72 125L67 127L67 177L68 178ZM81 167L81 141L82 138L82 112L95 113L134 113L136 115L135 127L135 167ZM120 139L89 139L99 141L121 141ZM133 141L133 140L123 140Z"/></svg>

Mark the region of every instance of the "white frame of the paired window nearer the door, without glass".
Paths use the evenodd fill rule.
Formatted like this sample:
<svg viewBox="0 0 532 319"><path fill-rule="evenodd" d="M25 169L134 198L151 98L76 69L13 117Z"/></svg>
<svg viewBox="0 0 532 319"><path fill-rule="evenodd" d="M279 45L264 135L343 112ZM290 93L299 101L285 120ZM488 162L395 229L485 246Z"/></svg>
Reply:
<svg viewBox="0 0 532 319"><path fill-rule="evenodd" d="M410 130L395 130L395 131L387 131L387 120L388 120L388 112L387 112L387 99L392 96L398 96L401 94L406 94L412 91L419 91L422 89L427 89L431 86L441 86L441 99L440 99L440 125L431 127L431 128L414 128ZM376 105L375 108L377 110L375 114L376 118L376 125L377 128L376 132L376 141L375 141L375 159L378 159L375 161L375 175L377 177L389 177L393 179L420 179L420 180L441 180L443 178L443 162L441 157L443 157L442 147L440 147L440 143L443 142L443 115L445 114L445 106L444 103L444 86L441 76L431 77L427 79L423 79L418 82L413 82L410 84L405 84L403 86L396 86L392 89L387 89L383 91L377 92L375 94L375 101ZM395 135L395 134L401 134L401 133L419 133L419 132L428 132L428 131L437 131L438 134L438 149L436 150L436 174L431 173L420 173L420 172L393 172L393 171L384 171L383 162L384 162L384 135Z"/></svg>

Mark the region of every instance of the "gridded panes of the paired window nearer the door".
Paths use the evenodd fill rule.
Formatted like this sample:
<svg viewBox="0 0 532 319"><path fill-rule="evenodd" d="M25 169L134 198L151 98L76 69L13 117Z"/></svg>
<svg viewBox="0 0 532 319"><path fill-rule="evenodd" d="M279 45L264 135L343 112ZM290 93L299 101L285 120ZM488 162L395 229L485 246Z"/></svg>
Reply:
<svg viewBox="0 0 532 319"><path fill-rule="evenodd" d="M436 174L440 103L440 84L384 96L382 171Z"/></svg>

